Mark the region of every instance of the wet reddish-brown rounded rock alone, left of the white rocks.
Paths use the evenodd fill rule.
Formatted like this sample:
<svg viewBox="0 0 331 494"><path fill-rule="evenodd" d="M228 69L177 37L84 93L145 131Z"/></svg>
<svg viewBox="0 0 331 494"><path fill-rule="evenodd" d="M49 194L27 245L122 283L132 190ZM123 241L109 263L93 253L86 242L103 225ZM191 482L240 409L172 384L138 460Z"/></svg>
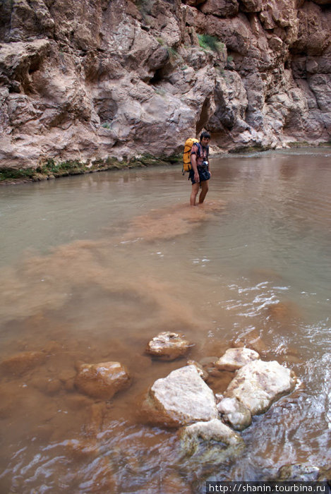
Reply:
<svg viewBox="0 0 331 494"><path fill-rule="evenodd" d="M98 399L111 399L129 384L128 371L119 362L83 363L75 378L78 391Z"/></svg>

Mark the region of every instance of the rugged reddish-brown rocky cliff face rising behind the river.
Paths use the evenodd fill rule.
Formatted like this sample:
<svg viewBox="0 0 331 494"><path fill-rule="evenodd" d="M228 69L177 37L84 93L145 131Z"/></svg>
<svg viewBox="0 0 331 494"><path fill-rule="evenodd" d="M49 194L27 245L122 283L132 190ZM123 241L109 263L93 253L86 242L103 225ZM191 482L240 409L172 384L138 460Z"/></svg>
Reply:
<svg viewBox="0 0 331 494"><path fill-rule="evenodd" d="M330 4L2 0L0 166L330 140Z"/></svg>

